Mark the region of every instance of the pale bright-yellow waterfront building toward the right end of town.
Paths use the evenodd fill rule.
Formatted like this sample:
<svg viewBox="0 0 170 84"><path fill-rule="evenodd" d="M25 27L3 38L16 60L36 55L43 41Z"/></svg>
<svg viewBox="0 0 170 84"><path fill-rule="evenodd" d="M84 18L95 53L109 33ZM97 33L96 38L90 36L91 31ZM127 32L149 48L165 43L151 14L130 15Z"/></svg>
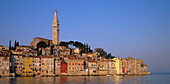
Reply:
<svg viewBox="0 0 170 84"><path fill-rule="evenodd" d="M116 72L117 74L122 74L122 59L121 58L113 58L113 60L116 62Z"/></svg>

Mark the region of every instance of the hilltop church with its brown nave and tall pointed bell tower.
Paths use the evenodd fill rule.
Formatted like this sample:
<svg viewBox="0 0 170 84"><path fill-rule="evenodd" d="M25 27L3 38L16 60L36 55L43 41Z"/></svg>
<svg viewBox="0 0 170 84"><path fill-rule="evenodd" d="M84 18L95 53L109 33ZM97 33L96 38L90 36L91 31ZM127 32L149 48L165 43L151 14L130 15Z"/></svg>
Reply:
<svg viewBox="0 0 170 84"><path fill-rule="evenodd" d="M57 15L57 10L55 9L53 23L52 23L52 31L53 31L53 39L46 39L41 37L35 37L33 41L30 43L30 47L36 49L37 47L49 47L51 45L59 45L59 20Z"/></svg>

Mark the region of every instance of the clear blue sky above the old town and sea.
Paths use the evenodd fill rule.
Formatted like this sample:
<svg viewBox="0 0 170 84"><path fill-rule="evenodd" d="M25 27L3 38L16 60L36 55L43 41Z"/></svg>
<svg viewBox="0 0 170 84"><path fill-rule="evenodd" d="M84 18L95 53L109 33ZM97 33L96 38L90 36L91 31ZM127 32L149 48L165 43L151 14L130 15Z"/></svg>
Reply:
<svg viewBox="0 0 170 84"><path fill-rule="evenodd" d="M52 39L55 8L61 41L142 58L150 72L170 72L169 0L0 0L0 45Z"/></svg>

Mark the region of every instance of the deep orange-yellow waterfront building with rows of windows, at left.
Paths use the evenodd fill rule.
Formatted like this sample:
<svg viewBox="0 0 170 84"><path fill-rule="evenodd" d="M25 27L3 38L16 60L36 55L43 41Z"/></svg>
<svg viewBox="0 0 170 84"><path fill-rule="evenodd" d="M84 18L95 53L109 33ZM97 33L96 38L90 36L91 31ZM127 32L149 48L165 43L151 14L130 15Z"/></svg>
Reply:
<svg viewBox="0 0 170 84"><path fill-rule="evenodd" d="M23 57L23 76L33 76L32 57Z"/></svg>

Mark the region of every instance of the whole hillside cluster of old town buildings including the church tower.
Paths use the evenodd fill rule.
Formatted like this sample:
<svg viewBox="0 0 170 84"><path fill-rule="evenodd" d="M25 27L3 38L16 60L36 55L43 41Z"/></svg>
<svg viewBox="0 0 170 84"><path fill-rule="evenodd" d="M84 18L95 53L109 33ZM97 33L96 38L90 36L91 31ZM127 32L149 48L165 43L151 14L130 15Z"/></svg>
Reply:
<svg viewBox="0 0 170 84"><path fill-rule="evenodd" d="M36 37L30 46L12 50L0 45L0 76L150 74L142 59L106 59L98 52L80 54L79 48L60 46L59 25L55 10L53 40Z"/></svg>

